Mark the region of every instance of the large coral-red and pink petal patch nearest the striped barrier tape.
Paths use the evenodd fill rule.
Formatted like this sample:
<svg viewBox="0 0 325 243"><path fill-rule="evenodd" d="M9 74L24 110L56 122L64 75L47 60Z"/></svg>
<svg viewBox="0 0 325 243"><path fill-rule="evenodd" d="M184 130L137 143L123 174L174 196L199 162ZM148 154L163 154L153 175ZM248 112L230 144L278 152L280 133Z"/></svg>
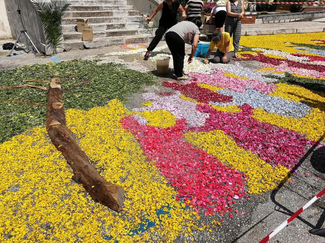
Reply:
<svg viewBox="0 0 325 243"><path fill-rule="evenodd" d="M236 169L220 163L217 158L183 141L185 120L176 125L159 128L140 125L132 116L121 120L123 128L130 131L142 145L144 154L152 159L160 173L166 176L178 195L205 215L223 213L227 207L246 194L245 179Z"/></svg>

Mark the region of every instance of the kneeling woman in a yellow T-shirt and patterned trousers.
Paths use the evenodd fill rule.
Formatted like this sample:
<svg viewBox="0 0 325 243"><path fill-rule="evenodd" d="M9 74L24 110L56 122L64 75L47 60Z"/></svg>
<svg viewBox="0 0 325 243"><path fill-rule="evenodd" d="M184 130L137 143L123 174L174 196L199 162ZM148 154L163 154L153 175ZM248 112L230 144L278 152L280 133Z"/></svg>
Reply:
<svg viewBox="0 0 325 243"><path fill-rule="evenodd" d="M218 50L216 51L214 58L210 59L209 61L213 63L229 63L234 56L234 46L232 45L229 33L221 33L218 29L212 34L212 41L209 45L209 50L206 53L204 63L208 63L207 58L215 46L218 48Z"/></svg>

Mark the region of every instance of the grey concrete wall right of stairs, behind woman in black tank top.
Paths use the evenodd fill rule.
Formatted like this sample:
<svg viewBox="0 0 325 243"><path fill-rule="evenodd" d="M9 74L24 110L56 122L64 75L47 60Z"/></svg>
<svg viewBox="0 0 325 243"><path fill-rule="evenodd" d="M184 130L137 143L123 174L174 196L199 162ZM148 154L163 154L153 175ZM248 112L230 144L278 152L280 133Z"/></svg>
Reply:
<svg viewBox="0 0 325 243"><path fill-rule="evenodd" d="M153 10L162 3L163 0L127 0L128 5L133 5L134 10L140 11L140 15L142 13L152 14ZM153 25L158 27L159 19L161 18L161 11L158 12L155 17L151 21L153 21Z"/></svg>

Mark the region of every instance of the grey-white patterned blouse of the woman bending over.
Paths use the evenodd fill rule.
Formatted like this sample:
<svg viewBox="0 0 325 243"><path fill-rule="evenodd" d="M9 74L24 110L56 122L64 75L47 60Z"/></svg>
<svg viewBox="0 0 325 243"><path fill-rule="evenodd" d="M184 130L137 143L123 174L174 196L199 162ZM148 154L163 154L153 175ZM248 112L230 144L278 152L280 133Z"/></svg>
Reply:
<svg viewBox="0 0 325 243"><path fill-rule="evenodd" d="M168 32L175 32L178 34L185 42L190 41L194 38L196 35L200 35L199 28L190 21L182 21L170 29L168 29ZM166 33L166 34L167 34Z"/></svg>

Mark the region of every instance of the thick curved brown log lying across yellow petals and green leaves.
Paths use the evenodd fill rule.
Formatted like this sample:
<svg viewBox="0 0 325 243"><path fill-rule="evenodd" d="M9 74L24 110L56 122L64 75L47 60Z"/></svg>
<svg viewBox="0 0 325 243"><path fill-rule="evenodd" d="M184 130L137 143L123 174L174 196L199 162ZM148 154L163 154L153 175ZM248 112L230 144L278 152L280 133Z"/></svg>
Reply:
<svg viewBox="0 0 325 243"><path fill-rule="evenodd" d="M47 91L46 130L55 147L72 167L72 179L82 184L95 202L119 212L123 208L124 189L104 180L89 163L87 156L66 126L59 78L53 78Z"/></svg>

